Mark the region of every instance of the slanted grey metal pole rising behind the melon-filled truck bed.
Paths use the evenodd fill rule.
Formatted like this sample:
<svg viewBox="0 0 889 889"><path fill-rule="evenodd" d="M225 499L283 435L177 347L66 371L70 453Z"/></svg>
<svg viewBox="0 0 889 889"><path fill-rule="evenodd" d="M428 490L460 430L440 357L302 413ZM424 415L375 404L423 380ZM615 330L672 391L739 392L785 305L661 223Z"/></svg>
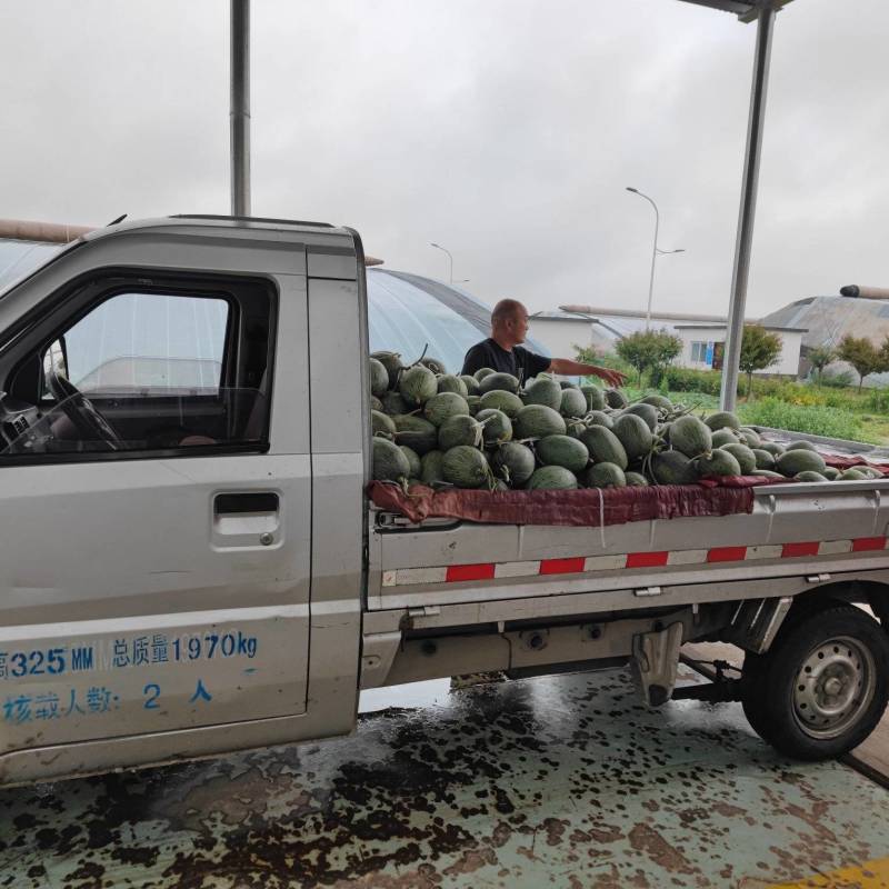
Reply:
<svg viewBox="0 0 889 889"><path fill-rule="evenodd" d="M738 363L741 358L741 339L743 338L743 312L747 302L747 280L750 272L750 247L757 209L759 157L762 150L762 130L766 122L766 92L769 82L769 58L773 28L775 10L771 4L760 7L757 17L757 49L753 59L750 117L747 124L747 150L743 159L741 209L738 214L735 266L731 273L728 336L722 361L722 389L719 397L722 410L735 410L737 400Z"/></svg>

